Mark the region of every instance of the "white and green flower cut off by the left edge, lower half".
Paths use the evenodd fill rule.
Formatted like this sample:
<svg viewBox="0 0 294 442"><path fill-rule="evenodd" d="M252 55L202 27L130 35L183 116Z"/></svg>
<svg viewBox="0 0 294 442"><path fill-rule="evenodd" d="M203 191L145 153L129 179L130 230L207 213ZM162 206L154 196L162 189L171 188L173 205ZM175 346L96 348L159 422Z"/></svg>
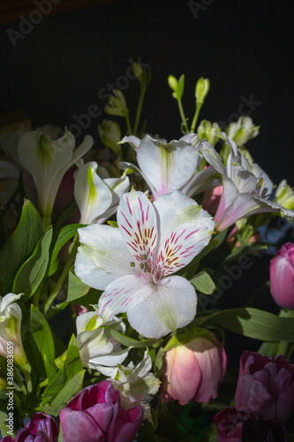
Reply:
<svg viewBox="0 0 294 442"><path fill-rule="evenodd" d="M11 354L11 350L8 351L7 347L13 347L14 363L30 371L20 334L22 312L19 304L15 302L20 296L21 294L14 293L0 296L0 354L6 358L7 354Z"/></svg>

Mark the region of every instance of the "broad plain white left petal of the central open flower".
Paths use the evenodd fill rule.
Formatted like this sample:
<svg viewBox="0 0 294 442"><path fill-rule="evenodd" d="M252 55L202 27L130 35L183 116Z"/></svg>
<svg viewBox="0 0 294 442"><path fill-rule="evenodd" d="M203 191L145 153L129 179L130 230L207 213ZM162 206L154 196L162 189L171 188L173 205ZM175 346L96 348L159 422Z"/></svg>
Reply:
<svg viewBox="0 0 294 442"><path fill-rule="evenodd" d="M88 225L79 229L79 240L75 273L88 286L104 290L116 278L132 273L133 256L117 228Z"/></svg>

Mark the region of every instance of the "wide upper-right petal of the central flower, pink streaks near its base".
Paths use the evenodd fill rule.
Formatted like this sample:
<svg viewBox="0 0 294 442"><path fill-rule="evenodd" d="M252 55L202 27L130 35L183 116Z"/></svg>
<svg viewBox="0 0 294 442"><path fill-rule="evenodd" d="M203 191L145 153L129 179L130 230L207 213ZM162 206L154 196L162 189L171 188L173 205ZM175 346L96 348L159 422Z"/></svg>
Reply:
<svg viewBox="0 0 294 442"><path fill-rule="evenodd" d="M207 246L214 231L213 217L179 191L154 203L160 219L160 242L155 276L170 275L190 263Z"/></svg>

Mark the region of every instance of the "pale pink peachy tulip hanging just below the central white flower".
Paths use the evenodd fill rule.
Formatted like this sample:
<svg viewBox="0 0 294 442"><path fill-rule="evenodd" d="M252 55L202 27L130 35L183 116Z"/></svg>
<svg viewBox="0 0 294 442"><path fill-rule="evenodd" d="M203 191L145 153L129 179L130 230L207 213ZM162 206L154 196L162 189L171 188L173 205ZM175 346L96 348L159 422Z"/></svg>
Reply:
<svg viewBox="0 0 294 442"><path fill-rule="evenodd" d="M162 376L161 400L178 400L185 405L192 400L209 402L217 397L217 389L225 375L227 356L203 337L166 352L166 370Z"/></svg>

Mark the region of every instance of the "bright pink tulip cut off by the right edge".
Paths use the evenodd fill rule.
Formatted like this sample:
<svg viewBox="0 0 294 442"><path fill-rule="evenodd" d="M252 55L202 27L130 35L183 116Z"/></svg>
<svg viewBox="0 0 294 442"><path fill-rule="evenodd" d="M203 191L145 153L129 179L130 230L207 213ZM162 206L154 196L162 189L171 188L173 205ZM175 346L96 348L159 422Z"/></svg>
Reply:
<svg viewBox="0 0 294 442"><path fill-rule="evenodd" d="M294 243L287 242L269 265L270 292L283 309L294 309Z"/></svg>

